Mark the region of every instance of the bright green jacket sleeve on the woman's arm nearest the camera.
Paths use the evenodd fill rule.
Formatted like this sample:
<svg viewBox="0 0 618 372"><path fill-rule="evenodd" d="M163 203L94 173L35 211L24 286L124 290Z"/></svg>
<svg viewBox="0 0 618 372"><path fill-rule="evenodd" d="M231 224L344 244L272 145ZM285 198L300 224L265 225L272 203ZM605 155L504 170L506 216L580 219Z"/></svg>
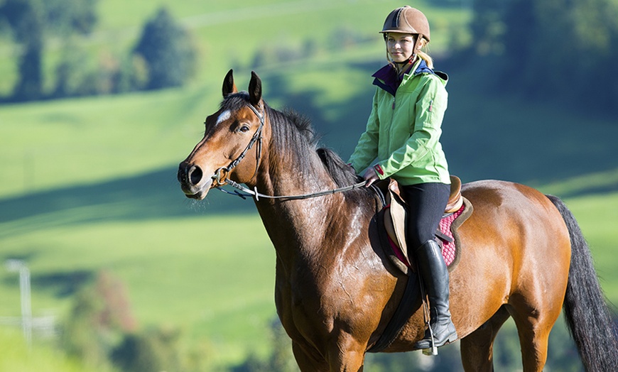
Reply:
<svg viewBox="0 0 618 372"><path fill-rule="evenodd" d="M379 162L380 179L390 177L403 168L423 162L438 146L442 133L442 120L448 103L448 94L442 82L428 79L416 102L416 117L411 118L411 133L408 141Z"/></svg>

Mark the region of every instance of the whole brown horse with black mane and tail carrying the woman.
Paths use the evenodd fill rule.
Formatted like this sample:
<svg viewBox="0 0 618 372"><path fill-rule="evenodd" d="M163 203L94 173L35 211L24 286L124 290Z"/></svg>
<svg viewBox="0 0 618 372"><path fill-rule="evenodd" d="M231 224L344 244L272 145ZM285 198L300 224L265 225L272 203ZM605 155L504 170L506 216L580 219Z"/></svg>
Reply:
<svg viewBox="0 0 618 372"><path fill-rule="evenodd" d="M305 195L358 182L331 151L317 149L308 121L271 109L252 73L237 92L232 71L202 141L180 163L185 195L203 199L232 180L259 195ZM474 213L450 273L452 320L466 371L492 371L492 344L512 317L524 371L541 371L560 310L589 371L618 371L614 323L590 250L563 202L511 182L480 181L462 194ZM302 371L362 371L394 314L408 277L382 251L366 188L307 199L256 197L276 250L278 316ZM233 239L233 237L230 237ZM564 304L564 305L563 305ZM421 299L384 351L410 351L425 333Z"/></svg>

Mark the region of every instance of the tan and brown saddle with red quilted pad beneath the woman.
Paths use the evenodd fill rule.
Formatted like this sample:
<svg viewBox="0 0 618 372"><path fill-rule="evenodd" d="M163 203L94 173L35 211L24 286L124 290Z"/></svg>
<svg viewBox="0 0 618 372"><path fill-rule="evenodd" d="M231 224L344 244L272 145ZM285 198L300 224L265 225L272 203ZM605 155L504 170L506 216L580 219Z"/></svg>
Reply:
<svg viewBox="0 0 618 372"><path fill-rule="evenodd" d="M460 226L470 214L472 214L472 204L461 194L461 180L455 175L450 176L450 196L445 207L440 227L436 231L436 241L443 248L443 256L449 270L455 267L459 261L461 244L457 235L457 227ZM382 241L385 251L394 265L403 273L409 275L409 271L414 271L413 258L408 257L406 246L406 215L407 203L401 195L399 182L384 180L378 185L384 194L385 207L379 213L379 219L383 222ZM381 218L380 218L381 217ZM381 226L379 226L381 227Z"/></svg>

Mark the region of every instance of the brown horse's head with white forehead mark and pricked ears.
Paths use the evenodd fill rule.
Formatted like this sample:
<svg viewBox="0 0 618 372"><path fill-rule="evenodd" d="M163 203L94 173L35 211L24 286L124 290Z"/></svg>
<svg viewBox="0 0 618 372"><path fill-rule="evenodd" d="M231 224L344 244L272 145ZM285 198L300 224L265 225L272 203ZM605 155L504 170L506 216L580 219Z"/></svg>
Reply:
<svg viewBox="0 0 618 372"><path fill-rule="evenodd" d="M228 179L238 183L254 179L266 119L261 97L261 80L255 72L251 72L248 93L238 92L232 70L227 72L219 111L206 118L204 138L178 169L178 181L187 197L204 199L212 187Z"/></svg>

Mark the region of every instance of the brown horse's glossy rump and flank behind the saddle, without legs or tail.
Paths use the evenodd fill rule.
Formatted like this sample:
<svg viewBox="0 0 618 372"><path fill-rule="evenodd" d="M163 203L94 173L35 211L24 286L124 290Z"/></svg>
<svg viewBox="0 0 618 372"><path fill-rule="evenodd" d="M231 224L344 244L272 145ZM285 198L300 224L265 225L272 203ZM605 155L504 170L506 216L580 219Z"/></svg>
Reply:
<svg viewBox="0 0 618 372"><path fill-rule="evenodd" d="M451 273L453 316L466 319L457 332L474 331L502 305L559 302L551 311L560 312L570 241L551 200L531 187L494 180L467 183L462 195L474 212L460 226L462 258Z"/></svg>

